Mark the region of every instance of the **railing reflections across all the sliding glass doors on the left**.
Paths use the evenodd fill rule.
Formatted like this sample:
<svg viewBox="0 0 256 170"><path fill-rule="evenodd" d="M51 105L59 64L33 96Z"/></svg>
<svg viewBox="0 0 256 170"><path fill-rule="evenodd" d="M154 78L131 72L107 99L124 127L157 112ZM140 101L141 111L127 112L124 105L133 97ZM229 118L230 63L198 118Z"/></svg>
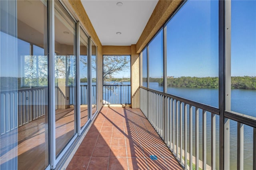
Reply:
<svg viewBox="0 0 256 170"><path fill-rule="evenodd" d="M81 85L81 104L88 103L87 85ZM65 95L64 93L68 94ZM75 87L65 87L63 92L59 87L55 87L55 108L66 109L66 105L74 105L75 103ZM92 103L96 103L96 85L92 85ZM67 96L69 99L67 99ZM1 105L1 121L0 134L10 132L15 128L26 125L48 112L48 90L47 87L32 87L26 89L18 89L13 91L0 91ZM18 107L14 107L13 103L18 103ZM18 109L18 111L15 111ZM18 113L16 115L15 113ZM18 116L18 117L17 117ZM17 121L18 120L18 121Z"/></svg>

